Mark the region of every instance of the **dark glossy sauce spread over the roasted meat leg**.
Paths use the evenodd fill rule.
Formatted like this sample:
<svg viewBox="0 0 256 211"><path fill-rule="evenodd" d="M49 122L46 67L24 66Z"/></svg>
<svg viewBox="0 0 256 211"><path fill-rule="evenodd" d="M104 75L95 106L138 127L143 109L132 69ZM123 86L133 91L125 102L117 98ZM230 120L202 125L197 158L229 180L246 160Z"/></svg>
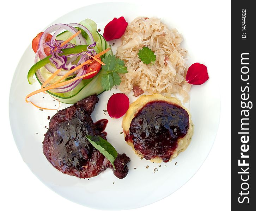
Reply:
<svg viewBox="0 0 256 211"><path fill-rule="evenodd" d="M91 158L92 153L96 150L86 139L86 134L100 135L105 138L106 124L108 120L103 119L94 123L95 134L92 127L86 122L81 122L79 118L69 121L60 122L57 126L57 132L54 135L54 148L58 153L58 157L69 168L75 168L78 171L83 170L85 162ZM102 133L103 132L103 133ZM100 134L102 133L102 134Z"/></svg>

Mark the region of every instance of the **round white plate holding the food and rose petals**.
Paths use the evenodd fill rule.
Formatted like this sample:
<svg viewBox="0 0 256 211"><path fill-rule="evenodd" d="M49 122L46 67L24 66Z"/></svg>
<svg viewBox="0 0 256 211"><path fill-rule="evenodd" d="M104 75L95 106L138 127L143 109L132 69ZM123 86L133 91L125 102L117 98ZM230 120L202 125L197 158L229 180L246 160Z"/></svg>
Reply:
<svg viewBox="0 0 256 211"><path fill-rule="evenodd" d="M106 12L106 8L108 12ZM163 19L169 27L177 28L183 34L185 40L183 46L190 52L197 52L195 45L189 39L197 39L194 33L191 33L192 28L189 22L185 20L185 17L179 15L180 11L172 10L172 13L168 13L163 12L164 9L154 7L147 8L145 11L145 5L104 3L77 9L52 24L74 23L90 18L98 24L98 28L103 33L104 26L114 17L124 16L127 21L132 21L137 16L155 16ZM104 14L104 16L100 16L100 14ZM116 43L115 46L117 45ZM198 46L200 47L200 43ZM195 62L203 63L197 54L199 53L190 53L189 65ZM161 167L159 167L159 164L153 164L145 159L140 160L131 147L126 144L123 135L120 134L122 119L110 119L108 114L105 115L103 112L112 92L118 92L118 89L114 89L99 96L100 101L92 114L92 119L109 119L106 127L108 141L115 146L119 153L126 153L131 160L128 164L127 177L122 180L117 179L111 170L100 173L99 176L90 180L62 174L47 161L42 152L43 134L47 131L45 126L49 124L47 117L52 117L56 111L40 111L31 104L26 104L24 100L26 94L39 88L38 84L29 85L26 78L28 70L33 65L34 57L35 54L29 46L14 74L10 92L10 122L14 140L23 160L45 185L61 196L73 202L102 210L141 207L163 199L176 191L196 173L206 159L217 133L220 114L220 95L215 83L217 76L214 75L213 70L209 69L211 64L206 64L210 75L209 81L201 86L193 86L191 89L189 109L195 124L192 141L187 150L179 154L172 162L161 163ZM130 102L135 100L132 95L129 98ZM39 100L43 106L53 106L54 103L52 98L43 98L42 95L35 96L34 99ZM65 106L68 105L63 104L62 108ZM149 168L146 168L147 165ZM154 173L154 167L158 169L156 173Z"/></svg>

